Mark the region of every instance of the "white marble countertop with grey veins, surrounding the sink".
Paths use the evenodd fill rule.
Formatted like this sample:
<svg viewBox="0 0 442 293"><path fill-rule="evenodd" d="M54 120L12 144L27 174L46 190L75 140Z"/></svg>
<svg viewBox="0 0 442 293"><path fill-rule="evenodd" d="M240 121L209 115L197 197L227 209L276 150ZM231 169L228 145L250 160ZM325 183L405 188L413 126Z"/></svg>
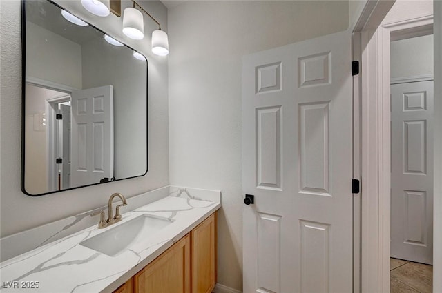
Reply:
<svg viewBox="0 0 442 293"><path fill-rule="evenodd" d="M1 292L113 292L131 276L189 233L221 207L220 200L195 199L175 194L123 214L119 223L98 229L97 225L38 247L0 263ZM108 256L80 245L106 230L150 214L172 221L130 250Z"/></svg>

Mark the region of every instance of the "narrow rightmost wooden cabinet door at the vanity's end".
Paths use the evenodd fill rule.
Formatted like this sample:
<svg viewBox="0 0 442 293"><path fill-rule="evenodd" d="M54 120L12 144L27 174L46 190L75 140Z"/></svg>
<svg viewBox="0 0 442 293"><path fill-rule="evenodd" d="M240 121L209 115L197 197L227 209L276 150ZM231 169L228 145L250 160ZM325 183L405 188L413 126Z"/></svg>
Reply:
<svg viewBox="0 0 442 293"><path fill-rule="evenodd" d="M191 232L192 293L211 293L216 283L216 213Z"/></svg>

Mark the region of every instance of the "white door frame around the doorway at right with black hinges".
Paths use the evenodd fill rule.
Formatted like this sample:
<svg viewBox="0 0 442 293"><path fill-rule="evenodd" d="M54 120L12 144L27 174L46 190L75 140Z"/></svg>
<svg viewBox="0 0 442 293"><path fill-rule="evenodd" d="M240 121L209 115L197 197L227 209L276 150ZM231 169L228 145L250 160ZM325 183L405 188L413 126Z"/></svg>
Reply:
<svg viewBox="0 0 442 293"><path fill-rule="evenodd" d="M361 62L361 73L353 79L354 178L362 182L361 194L354 198L354 292L390 292L390 41L425 34L433 23L433 17L427 16L381 24L393 4L394 1L367 1L353 30L353 60ZM441 14L442 4L434 3L434 22L439 25ZM441 40L436 34L434 39L437 52ZM434 64L441 61L435 54ZM436 81L441 73L435 66ZM440 85L436 86L440 92ZM442 115L436 115L438 110L442 112L442 101L434 105L435 123L442 120ZM442 134L438 134L434 133L434 150L442 146ZM434 162L436 178L442 172L441 164L438 167L442 155L436 155ZM434 181L434 194L441 190L442 184ZM437 207L442 208L442 199L434 196L433 243L440 244L442 233L437 229L441 229L442 214ZM441 274L441 254L434 244L434 292L442 290L442 281L435 277Z"/></svg>

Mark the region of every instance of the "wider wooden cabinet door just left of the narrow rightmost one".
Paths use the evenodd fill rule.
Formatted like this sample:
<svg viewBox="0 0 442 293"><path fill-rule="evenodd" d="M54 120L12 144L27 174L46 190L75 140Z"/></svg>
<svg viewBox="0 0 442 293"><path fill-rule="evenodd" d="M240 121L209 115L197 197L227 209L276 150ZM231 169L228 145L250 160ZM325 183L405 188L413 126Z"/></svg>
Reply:
<svg viewBox="0 0 442 293"><path fill-rule="evenodd" d="M186 234L134 276L134 292L190 293L190 252L190 237Z"/></svg>

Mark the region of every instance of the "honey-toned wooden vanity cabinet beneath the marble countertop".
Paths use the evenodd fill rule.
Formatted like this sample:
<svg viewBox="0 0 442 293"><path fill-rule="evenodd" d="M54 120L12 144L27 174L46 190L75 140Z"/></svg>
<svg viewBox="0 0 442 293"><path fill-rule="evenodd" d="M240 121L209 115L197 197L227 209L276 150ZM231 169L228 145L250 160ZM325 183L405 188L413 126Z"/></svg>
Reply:
<svg viewBox="0 0 442 293"><path fill-rule="evenodd" d="M113 293L211 293L216 283L216 212Z"/></svg>

